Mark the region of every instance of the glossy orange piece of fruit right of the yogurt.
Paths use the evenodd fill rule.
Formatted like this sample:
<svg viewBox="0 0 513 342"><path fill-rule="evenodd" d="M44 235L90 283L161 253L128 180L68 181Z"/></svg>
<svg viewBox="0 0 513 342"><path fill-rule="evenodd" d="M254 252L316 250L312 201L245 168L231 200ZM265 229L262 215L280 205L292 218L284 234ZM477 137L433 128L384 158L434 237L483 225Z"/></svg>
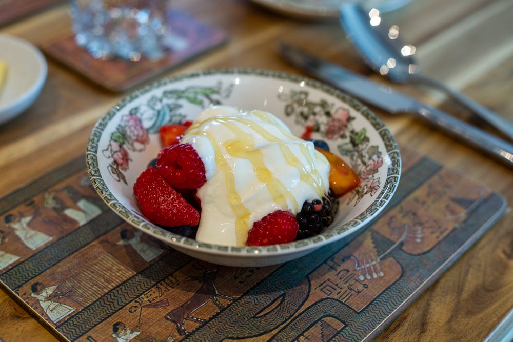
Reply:
<svg viewBox="0 0 513 342"><path fill-rule="evenodd" d="M337 155L322 148L315 148L328 159L331 166L329 170L329 187L333 189L335 197L340 197L360 184L360 178L353 169Z"/></svg>

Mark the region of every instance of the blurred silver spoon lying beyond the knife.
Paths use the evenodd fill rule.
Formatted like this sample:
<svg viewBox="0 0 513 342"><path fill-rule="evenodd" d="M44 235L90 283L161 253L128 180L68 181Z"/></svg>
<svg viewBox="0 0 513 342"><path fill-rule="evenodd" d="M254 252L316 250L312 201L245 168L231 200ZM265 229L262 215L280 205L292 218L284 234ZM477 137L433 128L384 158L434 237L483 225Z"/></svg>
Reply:
<svg viewBox="0 0 513 342"><path fill-rule="evenodd" d="M361 5L349 2L340 7L340 21L347 37L372 69L392 82L419 82L444 91L513 140L513 124L507 119L436 79L419 73L412 56L415 47L401 42L398 28L383 23L379 13L365 11Z"/></svg>

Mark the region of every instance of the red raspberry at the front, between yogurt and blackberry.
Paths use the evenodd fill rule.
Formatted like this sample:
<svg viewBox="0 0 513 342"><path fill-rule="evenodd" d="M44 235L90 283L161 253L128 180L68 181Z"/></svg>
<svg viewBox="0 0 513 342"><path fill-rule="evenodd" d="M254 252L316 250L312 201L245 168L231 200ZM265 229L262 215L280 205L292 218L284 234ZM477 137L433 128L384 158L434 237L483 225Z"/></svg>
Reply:
<svg viewBox="0 0 513 342"><path fill-rule="evenodd" d="M246 245L264 246L292 242L298 233L295 216L283 210L273 211L255 222L249 231Z"/></svg>

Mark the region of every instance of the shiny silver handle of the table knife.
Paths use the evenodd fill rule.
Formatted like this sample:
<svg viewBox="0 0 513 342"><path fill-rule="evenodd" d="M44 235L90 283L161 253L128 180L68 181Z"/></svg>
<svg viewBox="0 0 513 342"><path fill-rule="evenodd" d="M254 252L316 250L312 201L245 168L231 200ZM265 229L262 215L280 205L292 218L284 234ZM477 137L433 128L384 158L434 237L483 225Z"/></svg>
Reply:
<svg viewBox="0 0 513 342"><path fill-rule="evenodd" d="M415 113L513 168L513 144L436 108L419 105Z"/></svg>

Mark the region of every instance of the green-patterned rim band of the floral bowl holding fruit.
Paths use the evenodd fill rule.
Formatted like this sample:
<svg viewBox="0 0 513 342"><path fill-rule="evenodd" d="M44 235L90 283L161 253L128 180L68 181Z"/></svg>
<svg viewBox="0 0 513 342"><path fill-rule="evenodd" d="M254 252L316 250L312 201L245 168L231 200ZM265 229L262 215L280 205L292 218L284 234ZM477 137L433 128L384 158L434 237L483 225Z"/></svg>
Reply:
<svg viewBox="0 0 513 342"><path fill-rule="evenodd" d="M348 222L337 227L331 227L327 232L315 235L302 240L297 240L291 243L269 245L269 246L223 246L216 244L208 244L199 242L195 239L184 237L172 232L169 232L159 226L151 224L134 214L130 209L126 208L117 200L117 198L109 191L103 178L101 177L100 169L98 168L98 143L102 133L110 120L125 106L130 104L134 99L140 97L154 89L161 88L185 79L199 78L202 76L212 75L241 75L241 76L258 76L270 77L273 79L284 79L288 82L304 83L305 86L311 87L315 90L321 91L329 96L335 97L343 101L346 105L356 110L364 116L369 124L376 129L385 146L390 164L388 166L387 175L383 189L373 199L373 202L358 216L352 218ZM325 83L315 81L314 79L290 74L282 71L274 71L259 68L221 68L221 69L206 69L200 71L192 71L182 73L175 76L165 77L146 85L139 90L132 92L125 96L119 102L114 104L94 125L91 135L87 143L86 150L86 167L87 174L96 192L102 197L107 206L112 209L117 215L122 217L126 222L132 226L142 230L143 232L152 235L180 250L202 251L211 255L224 255L236 256L241 258L264 258L270 256L288 255L292 253L299 253L301 251L317 249L335 240L341 239L355 232L356 230L368 224L374 217L376 217L389 203L393 193L396 191L401 176L401 156L399 147L396 140L393 138L389 129L384 125L380 118L378 118L368 107L363 105L357 99L347 95L346 93L329 86ZM354 229L358 227L358 229Z"/></svg>

